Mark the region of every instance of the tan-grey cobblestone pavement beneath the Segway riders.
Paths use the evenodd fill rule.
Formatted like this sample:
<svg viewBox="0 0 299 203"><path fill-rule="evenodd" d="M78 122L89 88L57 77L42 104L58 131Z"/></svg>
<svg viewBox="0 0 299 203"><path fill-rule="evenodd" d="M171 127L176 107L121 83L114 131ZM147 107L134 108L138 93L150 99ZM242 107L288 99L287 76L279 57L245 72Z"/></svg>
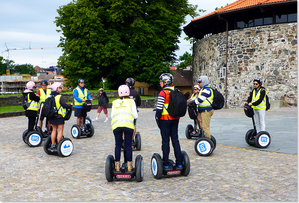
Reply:
<svg viewBox="0 0 299 203"><path fill-rule="evenodd" d="M194 140L181 139L191 163L187 177L152 177L150 160L161 151L161 137L147 133L157 129L152 109L139 109L137 131L142 148L133 150L144 160L142 182L105 178L105 160L114 155L110 122L100 114L93 122L91 138L73 139L72 117L64 126L64 137L72 139L74 151L61 158L48 155L43 143L31 148L22 141L25 116L0 119L0 201L298 201L297 155L217 144L208 157L197 155ZM91 119L97 111L90 112ZM109 120L111 109L108 109ZM296 111L268 111L267 115L297 115ZM242 109L223 109L213 117L244 116ZM187 123L188 116L180 123ZM171 147L172 148L172 147ZM173 149L170 158L174 160ZM123 161L123 156L121 158Z"/></svg>

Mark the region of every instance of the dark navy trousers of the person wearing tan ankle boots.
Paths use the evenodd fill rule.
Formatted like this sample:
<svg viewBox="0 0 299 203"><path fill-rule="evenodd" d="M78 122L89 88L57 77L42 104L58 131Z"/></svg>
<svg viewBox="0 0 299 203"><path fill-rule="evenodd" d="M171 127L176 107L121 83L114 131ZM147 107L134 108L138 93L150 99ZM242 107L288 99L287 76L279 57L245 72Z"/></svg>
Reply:
<svg viewBox="0 0 299 203"><path fill-rule="evenodd" d="M121 160L122 134L125 135L127 161L132 161L133 132L134 132L134 129L127 128L127 127L118 127L113 130L113 134L114 134L114 138L115 138L115 150L114 150L115 161Z"/></svg>

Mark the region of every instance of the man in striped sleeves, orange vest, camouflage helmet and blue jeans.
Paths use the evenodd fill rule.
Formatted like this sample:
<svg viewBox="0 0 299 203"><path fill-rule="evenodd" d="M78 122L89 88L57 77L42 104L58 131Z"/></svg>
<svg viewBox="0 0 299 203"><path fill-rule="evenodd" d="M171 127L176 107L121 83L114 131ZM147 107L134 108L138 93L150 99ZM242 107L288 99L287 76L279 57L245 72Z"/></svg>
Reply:
<svg viewBox="0 0 299 203"><path fill-rule="evenodd" d="M160 76L160 86L162 91L159 93L158 104L156 108L156 120L160 128L162 137L162 152L163 152L163 168L168 169L168 158L170 152L170 139L173 146L175 164L178 168L182 168L182 152L180 142L178 140L178 122L180 118L173 118L167 112L169 104L169 93L174 90L172 85L173 76L169 73L163 73Z"/></svg>

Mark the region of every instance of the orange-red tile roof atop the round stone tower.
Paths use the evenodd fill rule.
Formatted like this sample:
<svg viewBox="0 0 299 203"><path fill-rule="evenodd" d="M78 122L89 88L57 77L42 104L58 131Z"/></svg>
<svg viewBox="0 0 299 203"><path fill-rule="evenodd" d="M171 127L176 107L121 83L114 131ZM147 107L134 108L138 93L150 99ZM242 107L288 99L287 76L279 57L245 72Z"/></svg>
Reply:
<svg viewBox="0 0 299 203"><path fill-rule="evenodd" d="M267 4L267 3L277 3L277 2L286 2L286 1L293 1L293 0L238 0L236 2L233 2L225 7L219 8L218 10L211 12L205 16L193 19L192 21L197 21L199 19L219 14L222 12L227 12L227 11L232 11L232 10L237 10L240 8L246 8L246 7L251 7L251 6L257 6L261 4Z"/></svg>

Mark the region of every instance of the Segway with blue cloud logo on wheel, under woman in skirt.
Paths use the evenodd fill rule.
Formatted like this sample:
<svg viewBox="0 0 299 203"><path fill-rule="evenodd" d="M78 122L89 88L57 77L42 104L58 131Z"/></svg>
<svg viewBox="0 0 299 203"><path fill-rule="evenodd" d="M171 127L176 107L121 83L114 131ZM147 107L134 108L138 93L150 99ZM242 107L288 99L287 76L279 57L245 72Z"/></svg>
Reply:
<svg viewBox="0 0 299 203"><path fill-rule="evenodd" d="M57 138L55 142L57 143ZM44 151L46 154L58 154L61 157L68 157L74 149L72 140L69 138L62 138L54 149L50 149L51 144L51 137L47 137L44 142Z"/></svg>

